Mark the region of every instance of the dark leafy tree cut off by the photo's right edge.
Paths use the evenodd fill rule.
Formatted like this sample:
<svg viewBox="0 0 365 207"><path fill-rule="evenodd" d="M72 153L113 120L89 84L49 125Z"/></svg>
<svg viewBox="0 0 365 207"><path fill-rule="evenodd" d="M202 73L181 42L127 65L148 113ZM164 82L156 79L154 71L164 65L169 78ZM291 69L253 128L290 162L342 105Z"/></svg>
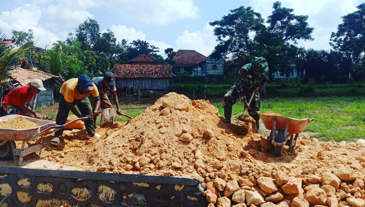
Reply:
<svg viewBox="0 0 365 207"><path fill-rule="evenodd" d="M332 32L330 45L358 63L365 53L365 3L356 8L358 11L341 17L342 24L338 25L337 32Z"/></svg>

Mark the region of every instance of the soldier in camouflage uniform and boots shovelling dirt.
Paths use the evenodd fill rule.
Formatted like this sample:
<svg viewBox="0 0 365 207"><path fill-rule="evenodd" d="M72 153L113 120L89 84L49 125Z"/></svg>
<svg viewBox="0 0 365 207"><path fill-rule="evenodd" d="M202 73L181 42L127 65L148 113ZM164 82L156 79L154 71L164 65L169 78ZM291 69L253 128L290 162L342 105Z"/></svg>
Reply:
<svg viewBox="0 0 365 207"><path fill-rule="evenodd" d="M264 88L268 83L268 62L263 57L254 57L251 63L242 66L238 71L238 79L236 83L227 90L223 99L224 107L224 123L231 123L232 106L236 103L239 97L240 101L243 101L245 108L248 108L247 112L256 121L256 129L259 129L260 116L260 93L259 91ZM255 93L250 106L248 104L247 97L251 96L251 93Z"/></svg>

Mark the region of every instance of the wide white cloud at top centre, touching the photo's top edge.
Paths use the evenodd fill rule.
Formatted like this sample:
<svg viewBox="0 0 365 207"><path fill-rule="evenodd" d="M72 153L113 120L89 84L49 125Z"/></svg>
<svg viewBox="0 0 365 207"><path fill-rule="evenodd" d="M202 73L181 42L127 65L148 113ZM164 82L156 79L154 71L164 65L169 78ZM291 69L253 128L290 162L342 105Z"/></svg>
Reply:
<svg viewBox="0 0 365 207"><path fill-rule="evenodd" d="M166 25L181 19L196 19L199 9L192 0L104 0L112 12L126 20Z"/></svg>

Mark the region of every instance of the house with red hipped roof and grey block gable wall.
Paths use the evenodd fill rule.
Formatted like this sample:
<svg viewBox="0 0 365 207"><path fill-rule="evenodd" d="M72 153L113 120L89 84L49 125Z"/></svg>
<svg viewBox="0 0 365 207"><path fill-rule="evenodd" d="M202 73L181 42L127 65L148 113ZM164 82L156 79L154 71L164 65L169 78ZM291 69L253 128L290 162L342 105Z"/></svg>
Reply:
<svg viewBox="0 0 365 207"><path fill-rule="evenodd" d="M178 50L173 57L173 74L188 72L191 76L223 75L223 59L205 57L195 50ZM166 58L165 61L168 61Z"/></svg>

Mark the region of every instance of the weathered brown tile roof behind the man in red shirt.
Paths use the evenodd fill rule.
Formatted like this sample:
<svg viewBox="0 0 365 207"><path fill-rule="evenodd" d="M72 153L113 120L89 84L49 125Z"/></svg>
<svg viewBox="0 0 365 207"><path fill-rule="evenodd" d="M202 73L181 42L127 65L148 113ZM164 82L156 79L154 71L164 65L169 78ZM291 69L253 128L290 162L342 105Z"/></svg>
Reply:
<svg viewBox="0 0 365 207"><path fill-rule="evenodd" d="M36 70L35 70L36 69ZM38 70L37 68L23 69L17 68L9 72L9 76L15 81L19 82L20 85L28 85L30 81L35 78L41 79L42 81L54 78L58 81L64 81L60 76L54 76L50 73L45 73Z"/></svg>

